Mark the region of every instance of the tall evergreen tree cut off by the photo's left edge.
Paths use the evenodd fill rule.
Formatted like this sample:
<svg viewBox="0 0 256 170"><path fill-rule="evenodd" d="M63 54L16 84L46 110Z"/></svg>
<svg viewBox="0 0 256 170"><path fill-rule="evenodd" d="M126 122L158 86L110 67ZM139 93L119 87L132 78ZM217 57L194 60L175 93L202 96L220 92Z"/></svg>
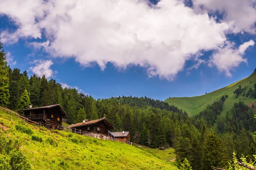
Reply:
<svg viewBox="0 0 256 170"><path fill-rule="evenodd" d="M0 42L0 105L6 106L9 103L9 77L6 62L6 53L3 50L3 43Z"/></svg>

